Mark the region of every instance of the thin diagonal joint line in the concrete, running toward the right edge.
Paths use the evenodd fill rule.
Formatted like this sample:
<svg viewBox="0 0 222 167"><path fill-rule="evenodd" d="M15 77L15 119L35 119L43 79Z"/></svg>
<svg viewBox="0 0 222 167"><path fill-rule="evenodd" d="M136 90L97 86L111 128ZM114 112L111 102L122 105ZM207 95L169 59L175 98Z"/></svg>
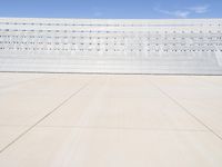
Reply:
<svg viewBox="0 0 222 167"><path fill-rule="evenodd" d="M193 115L191 111L189 111L183 105L181 105L178 100L175 100L173 97L171 97L168 92L162 90L157 84L149 80L159 91L161 91L165 97L168 97L170 100L172 100L176 106L182 108L188 115L190 115L193 119L195 119L198 122L200 122L202 126L204 126L209 131L211 131L215 137L218 137L220 140L222 140L222 137L218 135L212 128L210 128L208 125L205 125L200 118L198 118L195 115Z"/></svg>

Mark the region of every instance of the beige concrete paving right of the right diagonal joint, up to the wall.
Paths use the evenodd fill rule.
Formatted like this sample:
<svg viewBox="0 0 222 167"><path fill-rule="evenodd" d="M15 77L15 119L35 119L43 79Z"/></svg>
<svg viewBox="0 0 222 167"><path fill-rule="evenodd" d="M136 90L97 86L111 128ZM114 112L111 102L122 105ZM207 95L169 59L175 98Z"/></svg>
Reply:
<svg viewBox="0 0 222 167"><path fill-rule="evenodd" d="M157 77L153 81L164 94L222 137L222 77L170 77L168 81L163 78Z"/></svg>

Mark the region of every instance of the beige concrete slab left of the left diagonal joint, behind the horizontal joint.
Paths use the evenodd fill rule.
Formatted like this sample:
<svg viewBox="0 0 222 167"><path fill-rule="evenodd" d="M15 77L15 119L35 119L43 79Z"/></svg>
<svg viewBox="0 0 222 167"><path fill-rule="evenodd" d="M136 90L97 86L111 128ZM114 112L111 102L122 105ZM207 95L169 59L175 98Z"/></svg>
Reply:
<svg viewBox="0 0 222 167"><path fill-rule="evenodd" d="M0 125L33 125L78 91L90 78L81 75L78 77L48 75L36 81L2 89Z"/></svg>

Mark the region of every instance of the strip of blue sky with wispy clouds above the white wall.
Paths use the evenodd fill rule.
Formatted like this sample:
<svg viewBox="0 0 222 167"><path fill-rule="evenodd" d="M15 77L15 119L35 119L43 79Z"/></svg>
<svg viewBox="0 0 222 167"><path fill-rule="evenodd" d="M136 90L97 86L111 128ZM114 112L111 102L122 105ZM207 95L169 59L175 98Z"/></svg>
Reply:
<svg viewBox="0 0 222 167"><path fill-rule="evenodd" d="M0 17L222 18L222 0L0 0Z"/></svg>

